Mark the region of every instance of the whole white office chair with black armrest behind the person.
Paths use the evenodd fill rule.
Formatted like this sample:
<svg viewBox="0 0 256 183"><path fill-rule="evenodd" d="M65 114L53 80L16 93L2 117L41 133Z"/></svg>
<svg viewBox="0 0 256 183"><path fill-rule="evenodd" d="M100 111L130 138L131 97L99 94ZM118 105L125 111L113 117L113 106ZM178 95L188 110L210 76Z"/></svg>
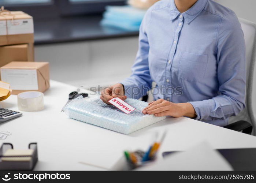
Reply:
<svg viewBox="0 0 256 183"><path fill-rule="evenodd" d="M256 58L256 24L242 18L239 18L239 21L244 31L246 46L246 107L237 116L230 117L229 124L224 128L256 136L256 121L252 110L252 84ZM142 101L148 101L148 95L142 97Z"/></svg>

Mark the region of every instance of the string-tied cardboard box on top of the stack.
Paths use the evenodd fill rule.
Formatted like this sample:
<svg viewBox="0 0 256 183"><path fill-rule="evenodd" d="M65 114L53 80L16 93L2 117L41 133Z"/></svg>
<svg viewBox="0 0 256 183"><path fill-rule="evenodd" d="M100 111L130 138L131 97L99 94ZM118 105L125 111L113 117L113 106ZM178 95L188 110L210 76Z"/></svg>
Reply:
<svg viewBox="0 0 256 183"><path fill-rule="evenodd" d="M0 15L0 46L34 42L33 17L22 11Z"/></svg>

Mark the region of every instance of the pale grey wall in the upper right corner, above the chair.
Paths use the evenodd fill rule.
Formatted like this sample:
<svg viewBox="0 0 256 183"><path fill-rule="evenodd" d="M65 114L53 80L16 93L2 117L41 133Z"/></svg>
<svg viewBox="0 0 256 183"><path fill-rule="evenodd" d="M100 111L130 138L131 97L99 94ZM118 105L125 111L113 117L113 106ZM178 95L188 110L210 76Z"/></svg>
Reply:
<svg viewBox="0 0 256 183"><path fill-rule="evenodd" d="M215 0L233 10L238 17L256 23L256 0Z"/></svg>

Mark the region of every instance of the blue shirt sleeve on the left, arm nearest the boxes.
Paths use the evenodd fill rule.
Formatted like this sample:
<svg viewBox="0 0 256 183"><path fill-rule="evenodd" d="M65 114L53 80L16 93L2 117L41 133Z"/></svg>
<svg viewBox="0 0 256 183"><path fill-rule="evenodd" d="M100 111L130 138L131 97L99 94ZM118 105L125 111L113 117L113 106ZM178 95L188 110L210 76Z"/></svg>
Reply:
<svg viewBox="0 0 256 183"><path fill-rule="evenodd" d="M148 52L149 43L146 34L146 26L150 21L151 8L146 12L140 26L139 48L135 63L132 67L132 74L129 78L120 83L125 87L125 95L130 98L140 98L145 96L152 87L152 79L149 73Z"/></svg>

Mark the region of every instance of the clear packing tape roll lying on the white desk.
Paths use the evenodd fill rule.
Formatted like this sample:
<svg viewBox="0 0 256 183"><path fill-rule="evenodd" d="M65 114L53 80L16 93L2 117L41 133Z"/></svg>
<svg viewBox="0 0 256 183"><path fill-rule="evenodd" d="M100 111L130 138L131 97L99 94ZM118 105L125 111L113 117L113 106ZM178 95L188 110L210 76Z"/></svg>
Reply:
<svg viewBox="0 0 256 183"><path fill-rule="evenodd" d="M39 91L26 91L18 94L20 111L41 111L44 109L44 94Z"/></svg>

